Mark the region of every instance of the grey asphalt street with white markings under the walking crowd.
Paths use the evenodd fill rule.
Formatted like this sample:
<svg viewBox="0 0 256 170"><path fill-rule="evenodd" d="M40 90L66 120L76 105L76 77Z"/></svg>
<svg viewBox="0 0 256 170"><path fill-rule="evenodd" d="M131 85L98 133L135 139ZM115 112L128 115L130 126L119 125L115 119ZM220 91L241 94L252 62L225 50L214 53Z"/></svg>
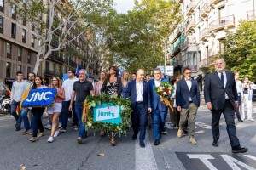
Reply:
<svg viewBox="0 0 256 170"><path fill-rule="evenodd" d="M256 115L255 103L253 116ZM169 117L166 119L169 122ZM44 119L46 122L46 119ZM67 133L61 133L49 144L46 135L31 143L28 134L15 132L12 116L0 116L0 169L256 169L256 122L236 122L237 135L246 154L232 155L225 123L220 125L218 148L212 147L211 114L202 105L196 118L197 145L189 143L189 137L177 138L177 129L167 124L168 133L163 135L159 146L154 146L152 131L148 130L146 148L140 148L138 141L127 136L117 138L117 145L109 144L108 136L99 137L99 131L89 132L84 144L77 144L76 131L70 126ZM101 154L102 156L98 156Z"/></svg>

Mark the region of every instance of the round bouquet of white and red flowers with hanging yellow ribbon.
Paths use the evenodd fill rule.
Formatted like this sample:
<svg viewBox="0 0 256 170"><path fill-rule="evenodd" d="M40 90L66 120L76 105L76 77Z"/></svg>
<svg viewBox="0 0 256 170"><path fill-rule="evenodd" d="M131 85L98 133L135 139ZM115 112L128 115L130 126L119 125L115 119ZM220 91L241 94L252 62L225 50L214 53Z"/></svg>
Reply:
<svg viewBox="0 0 256 170"><path fill-rule="evenodd" d="M156 94L159 95L161 102L165 103L172 111L172 105L167 99L174 93L174 87L169 82L162 82L159 87L154 88Z"/></svg>

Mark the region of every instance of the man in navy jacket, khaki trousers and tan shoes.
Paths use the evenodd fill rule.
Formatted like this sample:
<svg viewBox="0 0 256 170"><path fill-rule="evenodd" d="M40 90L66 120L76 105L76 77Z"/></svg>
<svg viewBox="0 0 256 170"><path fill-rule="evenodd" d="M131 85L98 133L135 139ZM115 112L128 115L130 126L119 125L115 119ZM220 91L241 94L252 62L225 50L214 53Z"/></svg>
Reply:
<svg viewBox="0 0 256 170"><path fill-rule="evenodd" d="M177 137L183 136L183 127L189 117L189 142L197 144L195 133L195 116L198 107L200 106L200 91L196 80L191 78L191 69L184 68L184 78L177 82L176 88L176 104L177 111L180 111L179 129Z"/></svg>

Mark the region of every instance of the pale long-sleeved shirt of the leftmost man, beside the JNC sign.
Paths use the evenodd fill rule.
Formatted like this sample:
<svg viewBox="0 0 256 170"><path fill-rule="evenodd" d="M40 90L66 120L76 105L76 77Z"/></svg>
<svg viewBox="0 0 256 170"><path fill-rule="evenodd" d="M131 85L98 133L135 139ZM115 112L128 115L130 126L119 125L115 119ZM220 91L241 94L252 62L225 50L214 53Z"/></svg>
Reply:
<svg viewBox="0 0 256 170"><path fill-rule="evenodd" d="M16 102L20 102L22 94L30 87L31 84L27 81L15 81L12 86L11 99L15 100Z"/></svg>

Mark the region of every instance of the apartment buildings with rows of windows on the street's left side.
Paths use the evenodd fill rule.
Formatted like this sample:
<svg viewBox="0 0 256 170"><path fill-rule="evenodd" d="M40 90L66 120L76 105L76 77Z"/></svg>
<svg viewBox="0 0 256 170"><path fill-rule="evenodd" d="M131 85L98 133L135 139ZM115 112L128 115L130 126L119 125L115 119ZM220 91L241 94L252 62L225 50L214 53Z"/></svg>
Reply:
<svg viewBox="0 0 256 170"><path fill-rule="evenodd" d="M44 3L46 0L42 1ZM26 6L26 0L23 0ZM60 1L55 6L55 21L65 21L64 6L69 5L66 0ZM46 24L49 23L48 14L41 15ZM71 27L71 24L67 24ZM53 27L53 29L55 29ZM23 71L26 75L33 71L38 51L38 40L35 37L35 28L27 20L21 20L16 14L15 5L10 5L6 0L0 0L0 78L15 78L16 71ZM61 29L55 31L51 46L57 48L61 36ZM69 32L68 40L75 35ZM51 77L62 77L68 69L87 69L90 75L97 75L99 61L96 44L88 41L85 34L67 44L67 47L57 52L52 52L49 58L41 63L38 75L48 82Z"/></svg>

